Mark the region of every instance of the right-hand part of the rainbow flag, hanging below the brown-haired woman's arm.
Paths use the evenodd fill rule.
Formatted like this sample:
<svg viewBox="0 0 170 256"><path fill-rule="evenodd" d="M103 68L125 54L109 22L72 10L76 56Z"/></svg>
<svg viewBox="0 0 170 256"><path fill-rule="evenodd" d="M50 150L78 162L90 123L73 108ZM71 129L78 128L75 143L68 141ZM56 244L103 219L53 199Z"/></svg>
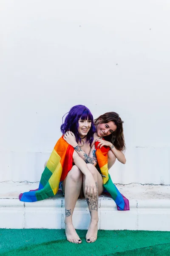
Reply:
<svg viewBox="0 0 170 256"><path fill-rule="evenodd" d="M97 148L99 142L95 142L97 163L103 175L103 186L106 189L106 194L110 194L120 211L129 210L129 200L122 195L111 180L108 173L108 151L109 147L103 146Z"/></svg>

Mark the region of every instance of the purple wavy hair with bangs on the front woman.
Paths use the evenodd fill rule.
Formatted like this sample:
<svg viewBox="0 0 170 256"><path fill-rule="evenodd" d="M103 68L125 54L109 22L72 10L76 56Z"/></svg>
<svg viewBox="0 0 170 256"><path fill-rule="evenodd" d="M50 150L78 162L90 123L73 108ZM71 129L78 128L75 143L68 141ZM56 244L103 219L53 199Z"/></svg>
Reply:
<svg viewBox="0 0 170 256"><path fill-rule="evenodd" d="M67 116L65 117L65 120L63 122L63 118L66 114ZM91 120L91 128L87 134L86 139L86 141L89 142L91 145L93 142L93 135L96 129L93 122L93 115L90 112L90 110L83 105L76 105L72 107L70 111L66 114L62 117L62 125L60 127L61 132L62 134L65 134L68 130L72 131L76 136L77 143L81 141L81 138L79 137L78 133L79 119L81 118L83 120Z"/></svg>

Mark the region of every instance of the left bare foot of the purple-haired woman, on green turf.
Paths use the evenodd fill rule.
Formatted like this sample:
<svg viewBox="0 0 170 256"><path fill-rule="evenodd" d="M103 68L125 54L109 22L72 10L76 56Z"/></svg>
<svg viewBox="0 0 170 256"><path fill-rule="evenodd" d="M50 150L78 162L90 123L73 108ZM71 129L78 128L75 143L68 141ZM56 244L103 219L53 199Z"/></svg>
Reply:
<svg viewBox="0 0 170 256"><path fill-rule="evenodd" d="M77 232L72 223L65 223L65 234L69 242L74 244L81 244L82 240L77 235Z"/></svg>

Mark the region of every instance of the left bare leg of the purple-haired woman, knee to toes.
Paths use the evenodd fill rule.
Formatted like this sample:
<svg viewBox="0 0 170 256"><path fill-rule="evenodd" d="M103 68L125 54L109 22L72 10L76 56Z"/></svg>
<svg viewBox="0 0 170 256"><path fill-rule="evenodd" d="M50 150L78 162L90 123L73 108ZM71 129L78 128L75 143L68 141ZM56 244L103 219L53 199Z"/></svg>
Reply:
<svg viewBox="0 0 170 256"><path fill-rule="evenodd" d="M82 241L72 223L72 215L77 199L82 187L82 172L73 166L63 181L63 190L65 192L65 234L67 240L72 243L80 244Z"/></svg>

